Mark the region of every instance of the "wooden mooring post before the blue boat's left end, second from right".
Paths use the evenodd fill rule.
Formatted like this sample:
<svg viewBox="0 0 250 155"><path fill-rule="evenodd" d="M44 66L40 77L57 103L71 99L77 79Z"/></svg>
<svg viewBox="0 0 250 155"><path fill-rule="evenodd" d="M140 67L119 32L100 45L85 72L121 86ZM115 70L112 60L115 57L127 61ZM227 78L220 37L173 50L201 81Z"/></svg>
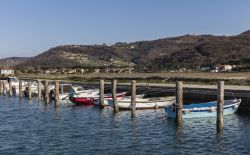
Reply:
<svg viewBox="0 0 250 155"><path fill-rule="evenodd" d="M176 123L182 126L182 107L183 107L183 83L182 81L176 82Z"/></svg>

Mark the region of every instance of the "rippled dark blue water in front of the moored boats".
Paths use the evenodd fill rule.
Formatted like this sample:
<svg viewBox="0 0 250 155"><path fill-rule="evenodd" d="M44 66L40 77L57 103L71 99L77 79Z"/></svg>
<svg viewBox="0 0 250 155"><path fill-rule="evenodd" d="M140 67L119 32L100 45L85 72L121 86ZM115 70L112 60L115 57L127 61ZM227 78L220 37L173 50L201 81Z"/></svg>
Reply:
<svg viewBox="0 0 250 155"><path fill-rule="evenodd" d="M46 107L36 99L0 97L0 154L249 154L250 117L184 120L175 127L162 110L117 115L95 107Z"/></svg>

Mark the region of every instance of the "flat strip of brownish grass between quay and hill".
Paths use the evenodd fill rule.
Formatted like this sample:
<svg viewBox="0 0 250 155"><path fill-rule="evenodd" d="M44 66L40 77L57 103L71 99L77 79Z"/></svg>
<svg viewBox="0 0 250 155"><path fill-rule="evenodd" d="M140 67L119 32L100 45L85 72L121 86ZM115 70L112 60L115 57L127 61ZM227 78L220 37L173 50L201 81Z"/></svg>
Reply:
<svg viewBox="0 0 250 155"><path fill-rule="evenodd" d="M145 83L174 83L183 81L190 84L216 84L223 80L229 85L249 85L250 72L243 73L132 73L132 74L26 74L19 76L24 79L50 79L67 82L91 83L99 79L118 79L120 82L129 82L134 79Z"/></svg>

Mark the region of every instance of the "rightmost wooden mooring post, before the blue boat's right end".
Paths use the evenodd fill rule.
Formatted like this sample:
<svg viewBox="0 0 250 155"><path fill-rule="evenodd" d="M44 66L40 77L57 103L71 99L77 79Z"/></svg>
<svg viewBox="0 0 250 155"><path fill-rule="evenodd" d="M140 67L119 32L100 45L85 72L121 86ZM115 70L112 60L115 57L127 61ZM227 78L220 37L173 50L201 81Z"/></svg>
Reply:
<svg viewBox="0 0 250 155"><path fill-rule="evenodd" d="M223 106L224 106L224 81L218 82L217 94L217 132L223 129Z"/></svg>

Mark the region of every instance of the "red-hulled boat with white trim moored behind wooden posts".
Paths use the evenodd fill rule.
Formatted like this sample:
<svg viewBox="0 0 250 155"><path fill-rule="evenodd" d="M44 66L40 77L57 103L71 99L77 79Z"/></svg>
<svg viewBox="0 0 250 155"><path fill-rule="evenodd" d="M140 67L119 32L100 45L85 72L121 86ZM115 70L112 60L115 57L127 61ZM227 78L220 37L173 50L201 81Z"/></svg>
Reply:
<svg viewBox="0 0 250 155"><path fill-rule="evenodd" d="M117 93L117 98L123 98L126 95L126 92L121 92L121 93ZM88 96L88 97L86 97ZM70 101L76 105L95 105L94 101L95 100L99 100L99 96L98 95L94 95L94 96L89 96L89 95L71 95L69 97ZM111 99L112 98L112 94L104 94L104 98L105 99ZM108 106L108 104L104 105L104 106Z"/></svg>

